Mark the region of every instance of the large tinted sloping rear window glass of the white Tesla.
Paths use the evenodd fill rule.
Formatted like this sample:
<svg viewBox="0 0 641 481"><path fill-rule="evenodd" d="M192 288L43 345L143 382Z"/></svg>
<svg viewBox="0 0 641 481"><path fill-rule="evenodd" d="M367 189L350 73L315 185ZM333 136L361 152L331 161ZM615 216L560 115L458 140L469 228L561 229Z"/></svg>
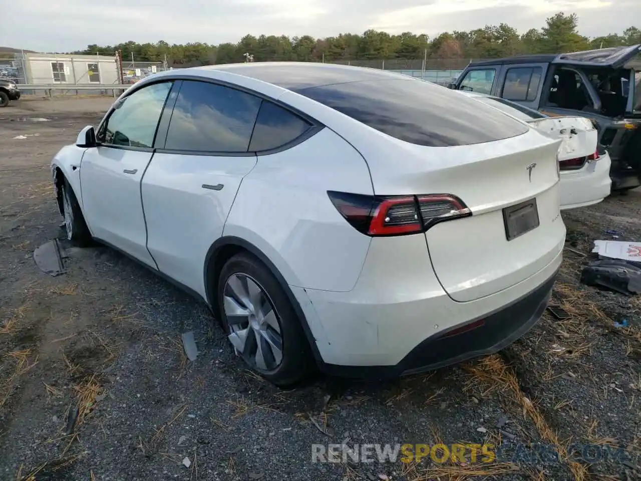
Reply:
<svg viewBox="0 0 641 481"><path fill-rule="evenodd" d="M446 87L412 78L368 80L297 92L395 139L451 147L516 137L528 126Z"/></svg>

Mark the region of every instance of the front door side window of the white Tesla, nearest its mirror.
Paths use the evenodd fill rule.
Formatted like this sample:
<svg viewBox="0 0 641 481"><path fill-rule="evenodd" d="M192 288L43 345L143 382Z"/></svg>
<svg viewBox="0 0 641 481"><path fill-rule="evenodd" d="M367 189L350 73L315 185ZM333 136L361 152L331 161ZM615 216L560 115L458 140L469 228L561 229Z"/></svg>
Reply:
<svg viewBox="0 0 641 481"><path fill-rule="evenodd" d="M106 146L152 148L171 82L154 83L124 97L98 133Z"/></svg>

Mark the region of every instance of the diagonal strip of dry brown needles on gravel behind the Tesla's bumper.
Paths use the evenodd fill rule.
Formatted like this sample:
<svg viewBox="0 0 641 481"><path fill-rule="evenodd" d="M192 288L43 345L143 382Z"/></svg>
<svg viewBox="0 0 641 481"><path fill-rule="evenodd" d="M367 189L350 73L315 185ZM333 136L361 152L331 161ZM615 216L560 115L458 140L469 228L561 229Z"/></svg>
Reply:
<svg viewBox="0 0 641 481"><path fill-rule="evenodd" d="M469 389L472 385L479 383L488 386L488 389L497 392L503 392L520 405L524 418L529 418L537 427L540 436L550 444L553 444L560 458L568 465L574 479L583 481L587 478L587 467L583 464L570 460L567 453L567 444L563 442L556 432L547 424L543 414L537 405L523 394L520 390L519 380L513 370L506 366L499 355L491 355L481 359L475 364L466 364L465 369L471 375L466 385Z"/></svg>

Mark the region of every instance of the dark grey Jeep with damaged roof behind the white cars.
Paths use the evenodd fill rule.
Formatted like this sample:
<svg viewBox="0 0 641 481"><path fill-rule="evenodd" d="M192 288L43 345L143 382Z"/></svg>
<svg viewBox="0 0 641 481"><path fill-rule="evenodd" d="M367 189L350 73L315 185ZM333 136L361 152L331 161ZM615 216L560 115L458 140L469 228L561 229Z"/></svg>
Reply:
<svg viewBox="0 0 641 481"><path fill-rule="evenodd" d="M449 87L592 119L612 158L612 189L640 185L641 45L472 62Z"/></svg>

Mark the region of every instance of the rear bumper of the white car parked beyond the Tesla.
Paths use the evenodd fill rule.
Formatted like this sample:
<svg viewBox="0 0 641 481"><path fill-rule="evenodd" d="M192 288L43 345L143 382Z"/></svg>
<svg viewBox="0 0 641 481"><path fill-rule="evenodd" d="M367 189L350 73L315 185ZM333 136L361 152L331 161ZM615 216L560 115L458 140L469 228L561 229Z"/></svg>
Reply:
<svg viewBox="0 0 641 481"><path fill-rule="evenodd" d="M578 171L561 173L561 209L586 207L610 195L610 156L606 153Z"/></svg>

